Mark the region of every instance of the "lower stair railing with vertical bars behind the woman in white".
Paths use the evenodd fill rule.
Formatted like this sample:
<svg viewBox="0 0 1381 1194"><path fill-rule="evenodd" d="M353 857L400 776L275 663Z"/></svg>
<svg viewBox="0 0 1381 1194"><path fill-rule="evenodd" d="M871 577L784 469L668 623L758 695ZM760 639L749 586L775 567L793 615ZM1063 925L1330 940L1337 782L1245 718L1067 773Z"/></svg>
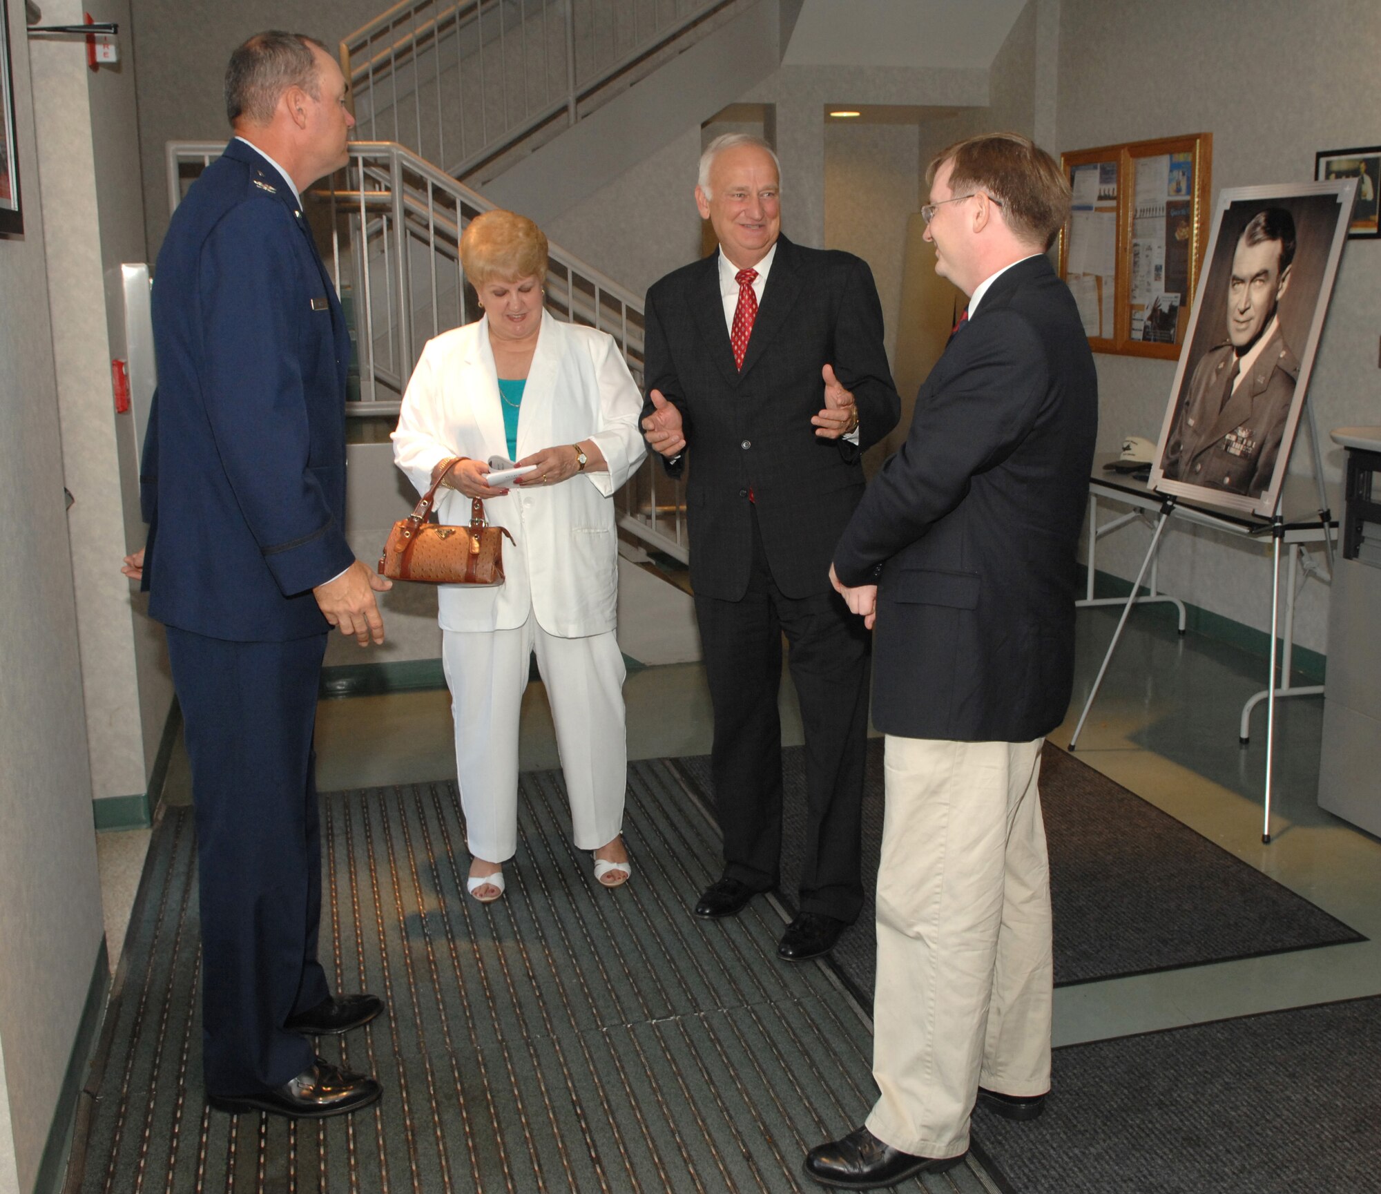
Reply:
<svg viewBox="0 0 1381 1194"><path fill-rule="evenodd" d="M224 148L168 142L170 210ZM351 142L349 163L309 195L319 202L307 213L351 325L345 413L391 423L427 340L481 315L458 246L470 220L494 205L388 141ZM557 245L548 245L548 257L547 311L613 336L641 387L642 301ZM615 502L620 527L646 549L689 561L684 481L667 478L653 456Z"/></svg>

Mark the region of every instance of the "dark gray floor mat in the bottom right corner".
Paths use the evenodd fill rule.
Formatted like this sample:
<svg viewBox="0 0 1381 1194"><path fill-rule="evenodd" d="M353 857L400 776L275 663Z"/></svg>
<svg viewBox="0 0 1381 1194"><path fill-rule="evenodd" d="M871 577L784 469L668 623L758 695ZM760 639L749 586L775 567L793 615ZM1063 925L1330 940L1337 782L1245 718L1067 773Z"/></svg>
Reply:
<svg viewBox="0 0 1381 1194"><path fill-rule="evenodd" d="M1040 1119L974 1132L1008 1194L1364 1194L1377 1056L1377 998L1072 1045Z"/></svg>

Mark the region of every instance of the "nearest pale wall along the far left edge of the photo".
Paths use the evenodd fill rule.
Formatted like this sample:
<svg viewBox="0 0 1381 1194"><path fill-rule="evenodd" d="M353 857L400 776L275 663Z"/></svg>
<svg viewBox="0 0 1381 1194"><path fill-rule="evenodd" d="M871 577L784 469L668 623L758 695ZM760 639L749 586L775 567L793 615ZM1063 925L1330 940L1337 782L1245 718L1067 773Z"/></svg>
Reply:
<svg viewBox="0 0 1381 1194"><path fill-rule="evenodd" d="M0 1191L32 1188L102 933L23 17L10 6L25 234L0 238Z"/></svg>

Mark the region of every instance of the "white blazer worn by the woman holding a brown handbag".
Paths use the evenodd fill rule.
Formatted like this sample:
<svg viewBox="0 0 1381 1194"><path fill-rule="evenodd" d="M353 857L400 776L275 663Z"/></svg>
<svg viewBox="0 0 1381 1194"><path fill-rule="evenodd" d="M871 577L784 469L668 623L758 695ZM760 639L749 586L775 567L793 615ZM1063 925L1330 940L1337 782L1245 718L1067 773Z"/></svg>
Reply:
<svg viewBox="0 0 1381 1194"><path fill-rule="evenodd" d="M442 585L443 630L512 630L532 609L548 634L580 638L615 629L619 544L613 492L646 455L642 397L613 337L562 323L545 311L518 413L518 459L543 448L594 439L608 473L579 473L559 485L485 502L485 517L507 527L507 580L493 589ZM394 462L418 495L449 456L507 456L487 316L429 340L403 395ZM470 499L439 489L436 517L470 522Z"/></svg>

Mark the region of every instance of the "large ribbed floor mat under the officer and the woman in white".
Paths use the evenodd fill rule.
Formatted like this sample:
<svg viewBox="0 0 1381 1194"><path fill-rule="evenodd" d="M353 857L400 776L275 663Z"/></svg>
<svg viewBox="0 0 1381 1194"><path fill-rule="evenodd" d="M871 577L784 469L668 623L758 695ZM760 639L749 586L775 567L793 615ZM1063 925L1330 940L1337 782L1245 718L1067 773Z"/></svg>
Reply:
<svg viewBox="0 0 1381 1194"><path fill-rule="evenodd" d="M322 958L388 1014L326 1038L378 1075L377 1108L320 1124L203 1104L189 808L166 808L87 1090L69 1188L141 1191L794 1191L804 1153L862 1122L870 1036L823 965L773 956L755 900L688 908L718 839L666 763L630 771L632 880L569 844L558 773L521 781L507 894L464 896L454 785L322 797ZM920 1188L911 1183L909 1188ZM992 1190L976 1166L927 1190Z"/></svg>

